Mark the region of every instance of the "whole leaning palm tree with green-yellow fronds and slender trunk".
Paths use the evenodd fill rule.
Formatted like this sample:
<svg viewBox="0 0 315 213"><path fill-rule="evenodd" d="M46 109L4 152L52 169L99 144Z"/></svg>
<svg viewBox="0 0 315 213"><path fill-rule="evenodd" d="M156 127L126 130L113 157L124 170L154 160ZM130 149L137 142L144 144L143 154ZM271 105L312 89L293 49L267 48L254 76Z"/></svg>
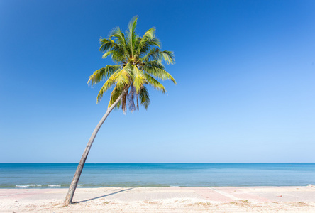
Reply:
<svg viewBox="0 0 315 213"><path fill-rule="evenodd" d="M104 93L111 87L111 97L106 113L94 129L87 147L84 150L77 170L65 198L65 204L71 204L74 191L77 188L79 177L87 160L87 155L92 146L97 132L101 128L109 113L116 107L121 108L124 113L128 109L134 111L140 104L148 108L150 98L147 85L165 93L165 87L158 80L172 80L177 84L175 79L168 72L162 62L174 64L174 54L170 50L160 50L160 40L155 37L155 28L150 28L145 32L143 37L136 34L138 16L131 19L128 24L126 36L121 29L116 27L109 34L109 38L101 38L101 47L99 50L104 53L103 58L111 56L116 65L107 65L96 70L90 77L88 84L97 84L106 80L103 87L97 95L97 102L101 100ZM136 104L135 104L136 101Z"/></svg>

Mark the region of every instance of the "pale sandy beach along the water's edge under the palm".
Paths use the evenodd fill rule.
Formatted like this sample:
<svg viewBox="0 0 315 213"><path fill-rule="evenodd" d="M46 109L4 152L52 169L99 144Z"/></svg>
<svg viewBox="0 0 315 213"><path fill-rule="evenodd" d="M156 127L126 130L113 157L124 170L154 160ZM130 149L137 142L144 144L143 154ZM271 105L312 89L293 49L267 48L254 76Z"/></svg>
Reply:
<svg viewBox="0 0 315 213"><path fill-rule="evenodd" d="M315 187L0 189L0 212L315 212Z"/></svg>

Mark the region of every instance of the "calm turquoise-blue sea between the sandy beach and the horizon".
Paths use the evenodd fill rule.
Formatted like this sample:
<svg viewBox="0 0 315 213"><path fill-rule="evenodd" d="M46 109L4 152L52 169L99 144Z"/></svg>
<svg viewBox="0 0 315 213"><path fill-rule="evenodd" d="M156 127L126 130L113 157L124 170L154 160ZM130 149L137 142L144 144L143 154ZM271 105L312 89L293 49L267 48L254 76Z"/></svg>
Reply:
<svg viewBox="0 0 315 213"><path fill-rule="evenodd" d="M69 187L77 163L0 163L0 188ZM78 187L315 185L315 163L86 163Z"/></svg>

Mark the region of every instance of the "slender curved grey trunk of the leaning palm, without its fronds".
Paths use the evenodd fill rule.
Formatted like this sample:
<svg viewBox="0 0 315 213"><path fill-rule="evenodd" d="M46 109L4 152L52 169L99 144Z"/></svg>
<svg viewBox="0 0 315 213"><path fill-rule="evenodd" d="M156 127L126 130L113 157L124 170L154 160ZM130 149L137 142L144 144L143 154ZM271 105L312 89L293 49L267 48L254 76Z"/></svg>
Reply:
<svg viewBox="0 0 315 213"><path fill-rule="evenodd" d="M65 205L69 205L72 203L72 198L74 195L74 191L77 188L77 183L79 182L79 178L80 175L82 173L83 167L84 167L84 163L85 160L87 160L87 155L89 155L89 150L91 149L92 143L94 142L94 139L96 137L97 132L99 131L99 129L101 128L101 125L104 123L104 121L106 120L107 116L109 116L109 113L114 109L114 107L116 107L116 105L118 104L118 102L121 100L121 98L123 97L124 94L126 94L126 92L128 91L128 88L126 88L125 90L123 90L123 92L121 93L121 95L116 99L116 101L111 104L111 107L109 107L106 111L106 113L104 114L104 116L101 118L101 121L99 121L99 124L97 124L97 126L95 127L91 138L89 138L89 142L87 143L87 147L84 150L84 153L81 157L81 160L79 162L79 165L77 166L77 170L74 173L74 177L73 180L71 182L71 185L69 187L69 190L67 192L67 196L65 198Z"/></svg>

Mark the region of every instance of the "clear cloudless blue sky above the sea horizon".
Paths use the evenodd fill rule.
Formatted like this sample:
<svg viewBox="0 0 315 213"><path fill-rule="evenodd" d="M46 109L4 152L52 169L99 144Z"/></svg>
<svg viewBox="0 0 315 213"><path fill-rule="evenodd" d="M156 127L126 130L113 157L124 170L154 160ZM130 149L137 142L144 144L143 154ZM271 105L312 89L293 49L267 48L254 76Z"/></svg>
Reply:
<svg viewBox="0 0 315 213"><path fill-rule="evenodd" d="M0 0L0 162L79 162L99 38L157 28L178 85L113 111L87 162L315 162L315 1Z"/></svg>

